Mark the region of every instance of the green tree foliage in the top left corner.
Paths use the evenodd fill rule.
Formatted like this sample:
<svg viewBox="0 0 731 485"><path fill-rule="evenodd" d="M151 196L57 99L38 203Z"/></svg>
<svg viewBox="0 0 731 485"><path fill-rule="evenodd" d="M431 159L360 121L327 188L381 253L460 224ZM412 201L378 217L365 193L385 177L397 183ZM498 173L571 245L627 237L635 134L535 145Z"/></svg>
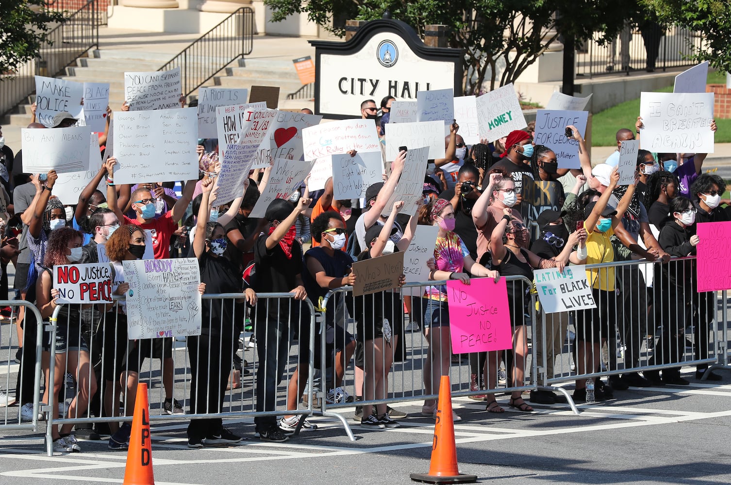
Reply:
<svg viewBox="0 0 731 485"><path fill-rule="evenodd" d="M52 24L62 18L61 12L46 8L45 0L0 1L0 73L12 73L36 58L41 46L50 44Z"/></svg>

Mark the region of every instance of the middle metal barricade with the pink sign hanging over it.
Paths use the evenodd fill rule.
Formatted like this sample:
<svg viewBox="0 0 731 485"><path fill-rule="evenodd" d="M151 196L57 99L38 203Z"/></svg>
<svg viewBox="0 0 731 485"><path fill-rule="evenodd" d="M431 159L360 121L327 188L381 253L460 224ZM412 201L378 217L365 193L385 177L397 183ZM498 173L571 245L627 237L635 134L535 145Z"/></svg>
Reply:
<svg viewBox="0 0 731 485"><path fill-rule="evenodd" d="M508 283L521 283L526 289L533 286L531 281L523 277L508 276L506 279ZM343 413L337 412L338 410L353 406L360 408L363 405L393 405L414 400L430 401L433 402L432 406L436 407L436 400L439 398L438 388L431 388L439 382L444 367L449 370L454 397L537 389L537 382L531 377L537 372L536 359L532 355L535 345L529 344L531 336L535 335L536 295L524 294L523 299L516 304L525 312L520 316L526 324L524 339L527 351L523 356L523 362L513 358L512 349L452 356L450 338L446 336L446 340L442 340L445 335L436 332L437 328L442 328L442 319L446 318L444 313L436 312L432 317L434 323L439 323L440 326L431 324L429 337L424 332L425 311L429 305L429 300L423 297L425 289L444 284L446 281L407 283L400 291L393 293L393 297L390 296L391 291L383 291L376 294L379 295L378 298L366 296L365 300L363 297L353 297L350 286L329 291L318 308L320 342L315 360L319 362L319 370L322 373L319 384L322 400L319 410L315 410L314 414L340 420L349 438L355 440L348 420ZM408 316L404 311L405 297L410 299L411 305ZM358 303L358 299L362 301ZM388 302L389 299L392 299L390 300L392 304L379 303L383 300ZM489 303L488 300L485 302ZM395 337L402 340L403 346L396 341L395 345L385 345L380 352L375 346L371 348L371 344L366 347L366 338L371 337L371 333L376 339L379 338L377 330L379 325L374 326L376 318L386 318L389 321L393 335L391 344ZM418 330L406 331L407 324L411 328L415 328L414 324L417 325ZM368 355L369 352L371 355ZM363 397L366 393L371 394L369 387L377 389L379 383L387 377L390 360L393 360L393 371L388 379L387 389L383 393L385 397L372 399ZM368 373L367 363L373 363L374 368L381 373L377 375ZM523 367L523 379L521 382L511 383L512 375L516 375L520 370L519 364ZM506 381L499 378L501 374L504 374ZM429 376L433 378L430 379ZM363 399L351 400L348 396ZM430 410L428 408L429 406L425 405L423 412ZM358 421L357 418L355 420Z"/></svg>

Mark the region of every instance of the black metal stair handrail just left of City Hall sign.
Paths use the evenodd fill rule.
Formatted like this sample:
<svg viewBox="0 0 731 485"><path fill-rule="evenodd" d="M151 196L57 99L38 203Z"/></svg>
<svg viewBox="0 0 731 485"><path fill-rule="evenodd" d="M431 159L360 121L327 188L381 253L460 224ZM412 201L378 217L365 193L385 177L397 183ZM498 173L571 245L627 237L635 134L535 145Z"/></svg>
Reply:
<svg viewBox="0 0 731 485"><path fill-rule="evenodd" d="M241 7L181 50L158 71L181 68L183 95L199 88L254 48L254 10Z"/></svg>

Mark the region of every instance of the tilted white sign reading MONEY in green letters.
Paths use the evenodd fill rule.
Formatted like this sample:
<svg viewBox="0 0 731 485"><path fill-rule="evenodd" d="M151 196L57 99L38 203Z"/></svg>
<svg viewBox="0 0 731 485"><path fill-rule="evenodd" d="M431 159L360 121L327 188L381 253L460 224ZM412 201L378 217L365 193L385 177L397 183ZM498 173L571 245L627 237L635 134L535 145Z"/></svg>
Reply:
<svg viewBox="0 0 731 485"><path fill-rule="evenodd" d="M507 136L510 131L528 126L512 83L483 94L475 103L480 137L490 142Z"/></svg>

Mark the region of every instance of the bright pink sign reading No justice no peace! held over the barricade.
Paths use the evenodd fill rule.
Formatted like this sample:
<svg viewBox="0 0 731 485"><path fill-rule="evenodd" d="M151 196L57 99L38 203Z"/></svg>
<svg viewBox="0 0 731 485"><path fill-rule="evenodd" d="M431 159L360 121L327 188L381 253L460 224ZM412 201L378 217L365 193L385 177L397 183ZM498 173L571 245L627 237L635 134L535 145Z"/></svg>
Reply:
<svg viewBox="0 0 731 485"><path fill-rule="evenodd" d="M512 348L505 278L473 278L469 285L447 281L450 333L455 354Z"/></svg>

